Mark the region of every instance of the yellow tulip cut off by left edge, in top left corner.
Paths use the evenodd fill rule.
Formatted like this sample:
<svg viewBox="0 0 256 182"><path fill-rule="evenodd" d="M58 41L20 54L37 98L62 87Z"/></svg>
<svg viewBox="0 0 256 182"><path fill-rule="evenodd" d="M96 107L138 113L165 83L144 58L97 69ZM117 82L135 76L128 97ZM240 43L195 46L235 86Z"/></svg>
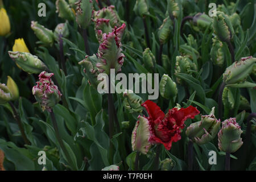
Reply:
<svg viewBox="0 0 256 182"><path fill-rule="evenodd" d="M0 36L6 36L11 30L10 20L4 8L0 9Z"/></svg>

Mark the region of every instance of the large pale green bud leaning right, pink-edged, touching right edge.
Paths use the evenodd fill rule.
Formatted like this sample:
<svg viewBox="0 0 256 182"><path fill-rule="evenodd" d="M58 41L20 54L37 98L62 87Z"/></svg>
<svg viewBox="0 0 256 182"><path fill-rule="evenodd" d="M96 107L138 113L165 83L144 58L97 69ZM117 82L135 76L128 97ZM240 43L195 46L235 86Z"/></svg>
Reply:
<svg viewBox="0 0 256 182"><path fill-rule="evenodd" d="M236 84L237 82L246 80L255 66L256 58L242 57L240 61L235 61L232 65L226 68L223 73L223 81L226 84Z"/></svg>

